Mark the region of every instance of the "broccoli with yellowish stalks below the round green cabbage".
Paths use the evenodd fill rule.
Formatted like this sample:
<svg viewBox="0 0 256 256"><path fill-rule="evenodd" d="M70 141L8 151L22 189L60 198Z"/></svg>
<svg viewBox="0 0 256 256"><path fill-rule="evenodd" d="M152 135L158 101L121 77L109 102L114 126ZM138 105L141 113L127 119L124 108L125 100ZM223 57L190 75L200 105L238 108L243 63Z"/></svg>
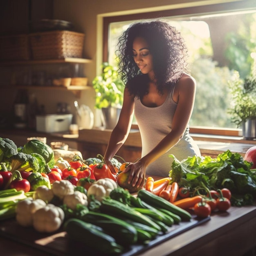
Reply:
<svg viewBox="0 0 256 256"><path fill-rule="evenodd" d="M11 172L18 171L39 171L40 165L38 159L32 155L18 152L8 159L11 166Z"/></svg>

